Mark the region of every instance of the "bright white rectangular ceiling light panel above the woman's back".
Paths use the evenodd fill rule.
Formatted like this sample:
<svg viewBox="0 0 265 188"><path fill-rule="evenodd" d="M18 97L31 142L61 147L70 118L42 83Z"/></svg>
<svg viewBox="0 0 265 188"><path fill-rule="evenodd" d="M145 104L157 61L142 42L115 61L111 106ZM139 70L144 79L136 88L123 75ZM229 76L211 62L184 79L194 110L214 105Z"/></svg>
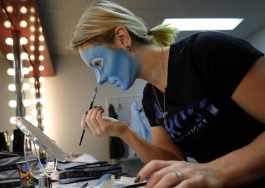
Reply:
<svg viewBox="0 0 265 188"><path fill-rule="evenodd" d="M233 30L244 18L168 18L169 23L178 30Z"/></svg>

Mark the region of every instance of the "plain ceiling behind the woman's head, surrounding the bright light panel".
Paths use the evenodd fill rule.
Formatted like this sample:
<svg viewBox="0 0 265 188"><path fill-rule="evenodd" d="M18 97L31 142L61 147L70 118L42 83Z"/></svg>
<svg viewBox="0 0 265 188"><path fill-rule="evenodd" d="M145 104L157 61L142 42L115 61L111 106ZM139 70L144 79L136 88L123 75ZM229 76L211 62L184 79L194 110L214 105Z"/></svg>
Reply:
<svg viewBox="0 0 265 188"><path fill-rule="evenodd" d="M78 19L92 0L38 0L51 56L77 54L67 49ZM165 18L244 18L231 35L246 39L265 25L264 0L116 0L146 21L149 29ZM193 32L180 32L179 38Z"/></svg>

